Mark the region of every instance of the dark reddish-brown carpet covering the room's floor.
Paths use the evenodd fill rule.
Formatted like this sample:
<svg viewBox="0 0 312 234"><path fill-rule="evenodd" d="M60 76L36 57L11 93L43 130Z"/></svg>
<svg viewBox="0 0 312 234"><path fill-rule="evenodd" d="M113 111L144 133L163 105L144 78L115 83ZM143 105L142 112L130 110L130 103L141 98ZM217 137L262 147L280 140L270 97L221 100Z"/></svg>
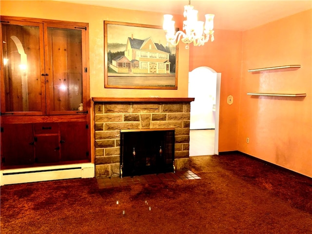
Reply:
<svg viewBox="0 0 312 234"><path fill-rule="evenodd" d="M195 156L201 179L100 189L1 186L1 234L312 234L312 179L242 154Z"/></svg>

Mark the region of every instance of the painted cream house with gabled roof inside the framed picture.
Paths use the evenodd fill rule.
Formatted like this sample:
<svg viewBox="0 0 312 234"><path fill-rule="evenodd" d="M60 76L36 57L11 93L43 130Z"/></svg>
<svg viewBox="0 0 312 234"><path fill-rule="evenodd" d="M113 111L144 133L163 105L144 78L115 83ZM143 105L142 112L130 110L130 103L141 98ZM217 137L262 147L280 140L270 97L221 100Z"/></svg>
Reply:
<svg viewBox="0 0 312 234"><path fill-rule="evenodd" d="M124 55L112 59L110 67L117 73L170 74L170 51L151 37L129 37Z"/></svg>

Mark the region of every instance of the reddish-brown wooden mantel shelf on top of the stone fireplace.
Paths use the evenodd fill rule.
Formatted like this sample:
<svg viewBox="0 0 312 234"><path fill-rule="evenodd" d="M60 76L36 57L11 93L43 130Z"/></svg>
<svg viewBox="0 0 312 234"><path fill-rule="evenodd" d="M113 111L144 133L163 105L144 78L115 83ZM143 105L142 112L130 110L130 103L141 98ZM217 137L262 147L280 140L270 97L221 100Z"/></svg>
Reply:
<svg viewBox="0 0 312 234"><path fill-rule="evenodd" d="M92 98L94 102L192 102L195 98Z"/></svg>

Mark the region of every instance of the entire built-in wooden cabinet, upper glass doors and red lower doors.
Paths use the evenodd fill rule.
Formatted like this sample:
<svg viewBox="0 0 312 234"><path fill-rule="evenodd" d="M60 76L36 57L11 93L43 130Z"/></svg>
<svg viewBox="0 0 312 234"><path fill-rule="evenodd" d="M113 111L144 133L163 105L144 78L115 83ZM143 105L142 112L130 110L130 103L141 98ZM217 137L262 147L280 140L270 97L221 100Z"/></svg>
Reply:
<svg viewBox="0 0 312 234"><path fill-rule="evenodd" d="M2 166L90 161L88 24L1 16Z"/></svg>

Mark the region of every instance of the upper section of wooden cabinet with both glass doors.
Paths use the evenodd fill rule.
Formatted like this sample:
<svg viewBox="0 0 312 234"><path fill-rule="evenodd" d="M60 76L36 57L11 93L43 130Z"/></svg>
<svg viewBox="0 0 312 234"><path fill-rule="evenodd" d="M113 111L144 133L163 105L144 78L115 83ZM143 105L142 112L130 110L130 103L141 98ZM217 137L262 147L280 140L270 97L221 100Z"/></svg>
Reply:
<svg viewBox="0 0 312 234"><path fill-rule="evenodd" d="M2 115L87 110L87 24L1 17Z"/></svg>

